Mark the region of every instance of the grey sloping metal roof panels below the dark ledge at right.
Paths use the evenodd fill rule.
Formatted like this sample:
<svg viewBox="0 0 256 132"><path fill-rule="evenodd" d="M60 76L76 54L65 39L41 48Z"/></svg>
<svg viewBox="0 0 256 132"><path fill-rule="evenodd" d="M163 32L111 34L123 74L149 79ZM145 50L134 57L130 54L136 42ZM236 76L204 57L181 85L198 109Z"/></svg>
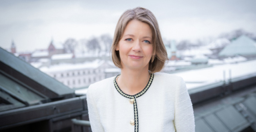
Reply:
<svg viewBox="0 0 256 132"><path fill-rule="evenodd" d="M256 86L194 105L196 132L256 131Z"/></svg>

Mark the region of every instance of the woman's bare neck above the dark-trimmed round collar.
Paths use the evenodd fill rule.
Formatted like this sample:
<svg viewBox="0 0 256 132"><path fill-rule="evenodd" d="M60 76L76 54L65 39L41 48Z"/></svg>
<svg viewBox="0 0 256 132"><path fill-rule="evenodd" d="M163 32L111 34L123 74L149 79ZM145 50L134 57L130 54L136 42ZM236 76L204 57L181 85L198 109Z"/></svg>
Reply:
<svg viewBox="0 0 256 132"><path fill-rule="evenodd" d="M150 74L148 69L121 69L121 75L117 78L117 84L124 93L134 95L145 88L145 86L148 84L149 78Z"/></svg>

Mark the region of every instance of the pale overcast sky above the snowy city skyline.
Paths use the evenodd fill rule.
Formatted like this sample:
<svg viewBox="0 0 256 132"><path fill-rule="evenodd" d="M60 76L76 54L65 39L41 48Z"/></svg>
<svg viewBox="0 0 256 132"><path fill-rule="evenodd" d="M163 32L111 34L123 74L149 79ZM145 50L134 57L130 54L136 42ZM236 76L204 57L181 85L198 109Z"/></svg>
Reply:
<svg viewBox="0 0 256 132"><path fill-rule="evenodd" d="M196 40L244 29L256 34L256 0L0 0L0 47L47 48L51 39L113 36L121 14L137 6L156 16L163 38Z"/></svg>

